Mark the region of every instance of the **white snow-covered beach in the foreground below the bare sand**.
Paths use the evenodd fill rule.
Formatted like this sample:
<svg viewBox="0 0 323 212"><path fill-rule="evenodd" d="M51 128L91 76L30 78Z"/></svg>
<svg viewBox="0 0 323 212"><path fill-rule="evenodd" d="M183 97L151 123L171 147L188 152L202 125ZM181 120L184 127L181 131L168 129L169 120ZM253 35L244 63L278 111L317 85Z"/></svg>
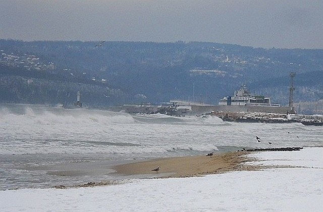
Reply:
<svg viewBox="0 0 323 212"><path fill-rule="evenodd" d="M1 211L322 211L323 148L254 152L271 167L110 186L0 191Z"/></svg>

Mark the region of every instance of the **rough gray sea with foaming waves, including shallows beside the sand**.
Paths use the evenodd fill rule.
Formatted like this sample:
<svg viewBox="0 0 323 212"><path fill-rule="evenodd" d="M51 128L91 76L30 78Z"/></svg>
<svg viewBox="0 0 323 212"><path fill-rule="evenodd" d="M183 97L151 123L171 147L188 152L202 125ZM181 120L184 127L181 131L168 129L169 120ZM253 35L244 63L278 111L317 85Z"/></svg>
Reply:
<svg viewBox="0 0 323 212"><path fill-rule="evenodd" d="M1 104L0 190L120 179L113 165L151 158L323 146L322 129L300 123L223 122L213 116Z"/></svg>

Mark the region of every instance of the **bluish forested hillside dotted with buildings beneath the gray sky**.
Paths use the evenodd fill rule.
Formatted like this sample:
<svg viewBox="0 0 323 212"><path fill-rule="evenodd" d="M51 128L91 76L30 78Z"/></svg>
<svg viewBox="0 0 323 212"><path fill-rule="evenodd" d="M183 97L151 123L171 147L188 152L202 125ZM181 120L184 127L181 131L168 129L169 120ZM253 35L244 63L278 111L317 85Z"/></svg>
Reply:
<svg viewBox="0 0 323 212"><path fill-rule="evenodd" d="M0 102L84 105L165 102L217 103L241 84L288 104L323 98L322 49L264 49L181 42L0 40Z"/></svg>

